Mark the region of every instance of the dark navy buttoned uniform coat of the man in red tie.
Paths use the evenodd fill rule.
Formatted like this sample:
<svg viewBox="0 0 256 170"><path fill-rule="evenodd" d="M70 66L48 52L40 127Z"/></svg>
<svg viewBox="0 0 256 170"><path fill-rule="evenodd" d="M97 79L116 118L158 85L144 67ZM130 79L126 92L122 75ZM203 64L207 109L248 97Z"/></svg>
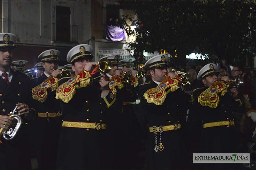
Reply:
<svg viewBox="0 0 256 170"><path fill-rule="evenodd" d="M34 107L29 77L21 72L11 71L13 77L10 85L0 78L0 115L7 115L17 103L25 103L30 108ZM0 169L31 169L29 134L26 123L31 123L35 119L36 112L34 109L30 110L33 116L27 119L21 115L23 124L12 140L5 140L1 137L3 143L0 144Z"/></svg>

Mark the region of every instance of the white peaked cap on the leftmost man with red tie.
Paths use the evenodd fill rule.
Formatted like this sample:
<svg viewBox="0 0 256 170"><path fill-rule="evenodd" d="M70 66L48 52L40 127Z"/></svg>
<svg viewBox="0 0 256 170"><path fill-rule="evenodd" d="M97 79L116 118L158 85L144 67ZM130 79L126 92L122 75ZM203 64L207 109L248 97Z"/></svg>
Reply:
<svg viewBox="0 0 256 170"><path fill-rule="evenodd" d="M0 48L8 47L8 48L16 48L14 43L17 41L16 35L12 33L0 33Z"/></svg>

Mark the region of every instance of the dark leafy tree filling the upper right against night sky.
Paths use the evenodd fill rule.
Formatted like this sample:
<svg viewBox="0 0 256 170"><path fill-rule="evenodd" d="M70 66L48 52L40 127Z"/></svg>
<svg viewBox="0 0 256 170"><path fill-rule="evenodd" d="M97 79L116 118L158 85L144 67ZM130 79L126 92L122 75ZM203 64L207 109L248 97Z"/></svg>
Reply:
<svg viewBox="0 0 256 170"><path fill-rule="evenodd" d="M125 15L119 22L128 35L136 36L136 41L129 43L129 50L165 50L172 55L173 62L182 66L185 56L195 49L209 55L204 60L207 63L216 63L225 56L231 64L245 64L255 56L255 1L119 3L119 8L133 10L135 14ZM132 22L136 25L134 30L130 28Z"/></svg>

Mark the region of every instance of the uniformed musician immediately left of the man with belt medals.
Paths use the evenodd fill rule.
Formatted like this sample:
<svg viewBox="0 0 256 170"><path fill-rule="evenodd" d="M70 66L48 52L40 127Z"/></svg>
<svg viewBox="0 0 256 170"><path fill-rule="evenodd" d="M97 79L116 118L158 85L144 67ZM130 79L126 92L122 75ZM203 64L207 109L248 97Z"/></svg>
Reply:
<svg viewBox="0 0 256 170"><path fill-rule="evenodd" d="M122 113L118 121L121 127L119 138L121 140L120 154L123 169L133 169L136 166L142 136L146 136L142 134L142 128L146 126L146 122L138 94L139 80L132 76L134 61L134 58L119 61L124 74L120 70L116 70L116 75L110 78L109 83L109 88L116 99L123 103ZM125 76L128 76L125 82L128 80L129 83L122 82L122 78L125 79Z"/></svg>

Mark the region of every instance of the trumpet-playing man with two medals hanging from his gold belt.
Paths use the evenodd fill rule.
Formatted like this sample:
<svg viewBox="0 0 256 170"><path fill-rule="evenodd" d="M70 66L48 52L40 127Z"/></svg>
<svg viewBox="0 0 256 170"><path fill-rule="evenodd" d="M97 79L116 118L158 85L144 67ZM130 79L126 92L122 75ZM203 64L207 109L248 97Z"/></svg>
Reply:
<svg viewBox="0 0 256 170"><path fill-rule="evenodd" d="M139 95L148 120L146 162L148 169L182 169L185 145L182 137L183 94L177 74L167 72L168 54L150 58L145 67L152 80L140 85Z"/></svg>

